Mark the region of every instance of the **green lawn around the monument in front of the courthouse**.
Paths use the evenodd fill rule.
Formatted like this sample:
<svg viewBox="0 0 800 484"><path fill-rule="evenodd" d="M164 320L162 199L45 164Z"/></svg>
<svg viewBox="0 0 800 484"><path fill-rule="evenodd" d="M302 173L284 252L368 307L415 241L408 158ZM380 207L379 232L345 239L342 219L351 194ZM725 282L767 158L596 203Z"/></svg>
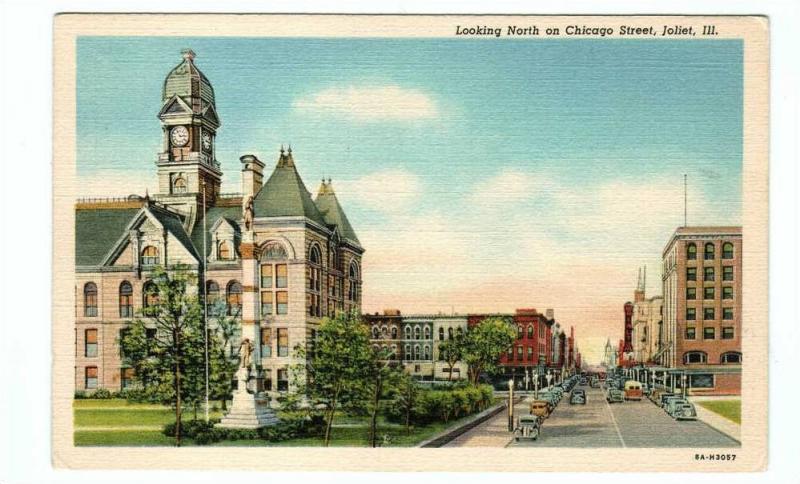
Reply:
<svg viewBox="0 0 800 484"><path fill-rule="evenodd" d="M164 424L174 421L174 411L169 407L152 404L129 404L125 400L75 400L73 404L76 446L164 446L174 445L174 439L161 433ZM212 418L221 417L221 412L212 412ZM202 410L199 418L203 417ZM184 411L184 421L193 418L193 412ZM333 421L331 446L359 447L368 445L368 418L337 415ZM378 436L381 444L383 436L388 435L388 445L392 447L414 446L441 432L459 421L445 424L437 422L425 427L412 427L406 434L405 427L378 420ZM116 429L114 427L117 427ZM135 429L131 427L149 427ZM193 445L185 439L184 445ZM217 446L288 446L319 447L321 438L302 438L285 442L266 440L223 441Z"/></svg>

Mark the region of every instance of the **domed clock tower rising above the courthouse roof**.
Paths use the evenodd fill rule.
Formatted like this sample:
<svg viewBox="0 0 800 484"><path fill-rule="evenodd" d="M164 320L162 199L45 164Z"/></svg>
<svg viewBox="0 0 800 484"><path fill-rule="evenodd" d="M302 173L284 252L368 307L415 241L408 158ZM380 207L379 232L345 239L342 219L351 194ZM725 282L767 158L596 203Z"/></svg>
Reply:
<svg viewBox="0 0 800 484"><path fill-rule="evenodd" d="M164 80L158 113L163 143L156 165L159 198L192 211L204 192L207 206L219 195L222 172L215 142L220 121L214 88L195 66L195 53L184 49L181 54L183 61Z"/></svg>

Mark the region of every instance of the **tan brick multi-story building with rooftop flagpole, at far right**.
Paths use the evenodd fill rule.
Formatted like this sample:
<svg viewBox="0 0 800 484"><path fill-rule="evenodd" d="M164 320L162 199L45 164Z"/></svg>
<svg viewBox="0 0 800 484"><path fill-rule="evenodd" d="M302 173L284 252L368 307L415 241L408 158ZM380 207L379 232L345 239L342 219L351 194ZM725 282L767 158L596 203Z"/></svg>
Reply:
<svg viewBox="0 0 800 484"><path fill-rule="evenodd" d="M692 394L741 393L742 229L680 227L663 251L663 366Z"/></svg>

